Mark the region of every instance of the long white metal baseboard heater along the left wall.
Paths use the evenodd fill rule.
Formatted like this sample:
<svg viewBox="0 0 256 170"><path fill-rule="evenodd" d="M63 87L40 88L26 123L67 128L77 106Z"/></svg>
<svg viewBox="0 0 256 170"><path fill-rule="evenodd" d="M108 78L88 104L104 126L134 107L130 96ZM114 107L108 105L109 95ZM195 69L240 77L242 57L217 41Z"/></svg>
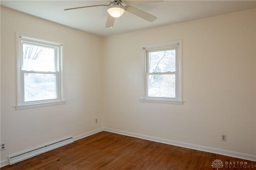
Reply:
<svg viewBox="0 0 256 170"><path fill-rule="evenodd" d="M8 156L9 164L10 165L15 164L15 163L20 162L22 160L26 160L26 159L31 158L33 156L48 152L50 150L62 147L64 145L68 145L68 144L73 143L73 142L74 142L73 137L67 137L65 139L60 139L58 141L53 141L51 143L48 143L48 144L45 144L45 145L42 145L42 146L38 146L38 147L29 149L29 150L24 150L20 153L9 155Z"/></svg>

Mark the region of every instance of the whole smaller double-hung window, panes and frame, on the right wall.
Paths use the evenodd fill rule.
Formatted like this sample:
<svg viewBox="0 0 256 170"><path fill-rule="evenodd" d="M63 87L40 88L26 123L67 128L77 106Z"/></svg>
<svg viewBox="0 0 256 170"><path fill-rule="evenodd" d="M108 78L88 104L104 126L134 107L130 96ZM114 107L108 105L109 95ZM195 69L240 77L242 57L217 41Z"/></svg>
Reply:
<svg viewBox="0 0 256 170"><path fill-rule="evenodd" d="M141 102L183 104L182 41L143 45Z"/></svg>

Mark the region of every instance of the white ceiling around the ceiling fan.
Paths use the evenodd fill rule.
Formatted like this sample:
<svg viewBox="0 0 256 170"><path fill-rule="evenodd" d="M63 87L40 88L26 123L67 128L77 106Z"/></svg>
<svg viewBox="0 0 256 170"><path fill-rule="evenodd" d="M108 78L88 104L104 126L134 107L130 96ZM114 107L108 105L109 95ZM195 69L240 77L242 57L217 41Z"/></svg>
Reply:
<svg viewBox="0 0 256 170"><path fill-rule="evenodd" d="M133 4L157 19L149 22L125 12L112 29L105 28L106 6L64 11L66 8L109 4L107 0L1 0L1 6L44 18L101 37L148 29L256 8L255 0L164 0L160 3ZM121 22L122 20L122 22Z"/></svg>

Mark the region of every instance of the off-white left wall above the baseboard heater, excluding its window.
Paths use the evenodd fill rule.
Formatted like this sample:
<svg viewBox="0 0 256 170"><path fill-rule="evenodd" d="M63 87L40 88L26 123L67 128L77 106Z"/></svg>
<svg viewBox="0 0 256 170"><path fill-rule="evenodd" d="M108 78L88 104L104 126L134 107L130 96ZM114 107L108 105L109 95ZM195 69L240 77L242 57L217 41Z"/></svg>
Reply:
<svg viewBox="0 0 256 170"><path fill-rule="evenodd" d="M16 31L64 43L66 105L15 110ZM101 37L1 7L1 160L102 127L101 47Z"/></svg>

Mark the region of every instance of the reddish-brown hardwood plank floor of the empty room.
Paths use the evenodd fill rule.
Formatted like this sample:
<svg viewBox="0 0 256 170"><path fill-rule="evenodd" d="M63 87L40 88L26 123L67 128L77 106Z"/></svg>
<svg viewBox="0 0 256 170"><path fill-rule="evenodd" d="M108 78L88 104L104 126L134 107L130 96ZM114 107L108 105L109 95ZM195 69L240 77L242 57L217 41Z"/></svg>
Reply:
<svg viewBox="0 0 256 170"><path fill-rule="evenodd" d="M256 169L252 161L103 131L1 170L216 170L217 159L218 170Z"/></svg>

